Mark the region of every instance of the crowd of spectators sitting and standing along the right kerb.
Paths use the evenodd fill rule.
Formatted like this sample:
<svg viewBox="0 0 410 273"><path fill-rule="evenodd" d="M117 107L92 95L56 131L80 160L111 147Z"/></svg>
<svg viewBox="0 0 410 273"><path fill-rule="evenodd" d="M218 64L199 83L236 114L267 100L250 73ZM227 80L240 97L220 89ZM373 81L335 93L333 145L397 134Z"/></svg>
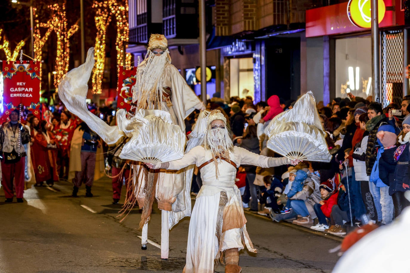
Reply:
<svg viewBox="0 0 410 273"><path fill-rule="evenodd" d="M392 223L409 205L404 192L410 189L410 96L401 105L386 108L372 100L348 94L326 106L317 104L330 162L267 169L241 166L237 186L244 209L334 235L345 235L349 227L367 221ZM219 109L227 117L235 145L280 156L266 148L267 131L271 120L294 103L277 95L255 105L252 97L231 97L225 102L216 93L207 110ZM392 115L393 109L401 109L402 115ZM190 129L197 115L190 117ZM192 185L195 194L201 186L199 175Z"/></svg>

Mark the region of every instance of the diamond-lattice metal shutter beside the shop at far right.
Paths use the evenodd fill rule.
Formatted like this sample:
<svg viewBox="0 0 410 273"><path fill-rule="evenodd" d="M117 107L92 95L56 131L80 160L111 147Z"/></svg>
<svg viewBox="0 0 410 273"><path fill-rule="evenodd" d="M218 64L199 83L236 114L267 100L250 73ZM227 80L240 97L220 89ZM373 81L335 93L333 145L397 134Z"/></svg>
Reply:
<svg viewBox="0 0 410 273"><path fill-rule="evenodd" d="M383 107L401 104L403 98L403 29L381 32Z"/></svg>

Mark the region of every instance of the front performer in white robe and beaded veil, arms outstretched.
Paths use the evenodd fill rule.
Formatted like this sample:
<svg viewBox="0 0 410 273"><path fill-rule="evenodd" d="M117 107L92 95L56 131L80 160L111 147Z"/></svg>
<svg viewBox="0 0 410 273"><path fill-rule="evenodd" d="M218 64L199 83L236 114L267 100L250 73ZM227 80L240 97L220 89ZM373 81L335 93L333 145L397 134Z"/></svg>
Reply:
<svg viewBox="0 0 410 273"><path fill-rule="evenodd" d="M184 272L214 272L214 260L225 251L225 272L240 272L239 250L244 246L256 253L246 231L241 195L235 185L241 164L260 167L297 165L299 160L260 156L234 147L219 110L207 120L205 145L191 149L179 160L146 165L151 169L178 170L195 164L201 169L203 187L196 197L189 223L187 259Z"/></svg>

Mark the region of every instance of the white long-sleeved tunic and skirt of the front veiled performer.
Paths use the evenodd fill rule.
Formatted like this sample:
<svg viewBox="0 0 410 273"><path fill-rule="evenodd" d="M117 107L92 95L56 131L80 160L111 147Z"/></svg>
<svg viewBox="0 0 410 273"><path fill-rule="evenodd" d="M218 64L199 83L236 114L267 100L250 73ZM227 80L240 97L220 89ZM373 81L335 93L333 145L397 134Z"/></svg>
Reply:
<svg viewBox="0 0 410 273"><path fill-rule="evenodd" d="M210 150L197 146L183 158L169 162L168 169L182 169L191 164L199 167L211 158ZM287 158L260 156L240 147L234 147L230 159L237 167L246 164L267 168L289 163ZM218 169L218 179L214 162L205 165L200 171L203 186L196 197L189 223L185 272L214 272L214 259L219 257L218 250L243 249L242 236L248 250L256 252L246 231L241 194L235 185L236 168L221 160ZM223 191L226 192L228 201L223 209L223 241L219 242L216 237L216 225L219 199Z"/></svg>

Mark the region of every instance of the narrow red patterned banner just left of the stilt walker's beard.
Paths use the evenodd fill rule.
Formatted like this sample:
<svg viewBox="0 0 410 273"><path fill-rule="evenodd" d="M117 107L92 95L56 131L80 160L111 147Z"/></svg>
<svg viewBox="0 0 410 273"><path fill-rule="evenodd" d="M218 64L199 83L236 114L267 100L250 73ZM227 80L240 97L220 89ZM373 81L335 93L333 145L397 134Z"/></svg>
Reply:
<svg viewBox="0 0 410 273"><path fill-rule="evenodd" d="M130 110L132 102L132 86L135 84L135 74L137 67L125 70L120 67L117 88L117 108L123 108L125 111Z"/></svg>

